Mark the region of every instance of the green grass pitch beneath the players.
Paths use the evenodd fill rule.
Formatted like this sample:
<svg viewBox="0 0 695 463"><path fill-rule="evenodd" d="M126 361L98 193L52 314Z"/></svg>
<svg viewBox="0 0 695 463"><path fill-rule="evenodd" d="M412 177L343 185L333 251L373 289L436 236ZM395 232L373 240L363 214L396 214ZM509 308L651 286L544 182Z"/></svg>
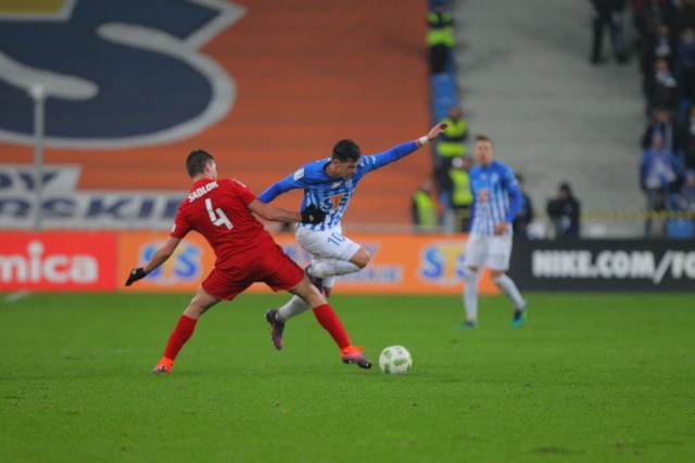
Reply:
<svg viewBox="0 0 695 463"><path fill-rule="evenodd" d="M695 296L502 297L454 331L458 297L340 296L377 362L340 362L311 313L276 351L243 295L205 314L168 376L150 368L189 295L0 295L0 462L693 462Z"/></svg>

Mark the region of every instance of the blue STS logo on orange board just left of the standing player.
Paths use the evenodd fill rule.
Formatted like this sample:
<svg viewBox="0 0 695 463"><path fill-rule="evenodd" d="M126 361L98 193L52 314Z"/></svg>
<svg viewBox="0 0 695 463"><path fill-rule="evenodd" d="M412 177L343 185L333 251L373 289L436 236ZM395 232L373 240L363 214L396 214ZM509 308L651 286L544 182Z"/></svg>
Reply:
<svg viewBox="0 0 695 463"><path fill-rule="evenodd" d="M460 241L440 241L420 253L418 276L429 284L459 285L465 275L466 244Z"/></svg>

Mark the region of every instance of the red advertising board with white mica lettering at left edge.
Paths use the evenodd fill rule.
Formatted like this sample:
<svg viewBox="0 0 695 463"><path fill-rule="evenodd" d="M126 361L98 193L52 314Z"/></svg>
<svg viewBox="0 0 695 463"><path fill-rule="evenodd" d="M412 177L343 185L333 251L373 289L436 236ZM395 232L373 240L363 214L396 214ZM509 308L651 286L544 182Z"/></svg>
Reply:
<svg viewBox="0 0 695 463"><path fill-rule="evenodd" d="M113 290L115 233L8 233L0 242L0 291Z"/></svg>

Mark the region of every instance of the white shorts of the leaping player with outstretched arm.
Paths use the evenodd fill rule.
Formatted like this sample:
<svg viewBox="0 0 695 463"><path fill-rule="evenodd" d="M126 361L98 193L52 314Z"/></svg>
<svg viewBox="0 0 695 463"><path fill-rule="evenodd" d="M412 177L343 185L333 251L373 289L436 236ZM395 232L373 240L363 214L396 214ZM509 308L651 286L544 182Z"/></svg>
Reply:
<svg viewBox="0 0 695 463"><path fill-rule="evenodd" d="M313 261L320 259L350 260L359 250L359 245L343 236L341 227L329 230L309 230L306 227L296 228L296 242L302 249L312 255ZM334 276L324 279L324 286L333 287Z"/></svg>

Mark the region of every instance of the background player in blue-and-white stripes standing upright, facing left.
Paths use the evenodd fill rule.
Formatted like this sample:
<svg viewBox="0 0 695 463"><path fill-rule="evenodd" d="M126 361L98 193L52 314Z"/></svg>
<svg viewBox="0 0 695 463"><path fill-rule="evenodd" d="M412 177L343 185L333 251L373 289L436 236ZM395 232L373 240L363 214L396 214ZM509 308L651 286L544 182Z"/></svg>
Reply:
<svg viewBox="0 0 695 463"><path fill-rule="evenodd" d="M511 326L519 327L526 318L527 301L505 272L511 257L511 221L519 213L523 197L511 168L494 159L490 138L476 138L473 155L478 165L470 170L473 204L466 246L466 321L457 326L478 326L478 281L481 268L488 267L492 281L514 303Z"/></svg>

